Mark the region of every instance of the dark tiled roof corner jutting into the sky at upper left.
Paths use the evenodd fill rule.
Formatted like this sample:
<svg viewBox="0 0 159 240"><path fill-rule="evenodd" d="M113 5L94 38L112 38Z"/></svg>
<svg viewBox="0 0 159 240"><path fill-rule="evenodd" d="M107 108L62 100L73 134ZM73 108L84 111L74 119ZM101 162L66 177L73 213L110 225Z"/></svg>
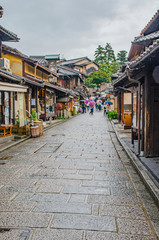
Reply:
<svg viewBox="0 0 159 240"><path fill-rule="evenodd" d="M4 42L6 42L6 41L18 42L19 41L19 38L15 33L5 29L1 25L0 25L0 38L1 38L1 41L4 41Z"/></svg>

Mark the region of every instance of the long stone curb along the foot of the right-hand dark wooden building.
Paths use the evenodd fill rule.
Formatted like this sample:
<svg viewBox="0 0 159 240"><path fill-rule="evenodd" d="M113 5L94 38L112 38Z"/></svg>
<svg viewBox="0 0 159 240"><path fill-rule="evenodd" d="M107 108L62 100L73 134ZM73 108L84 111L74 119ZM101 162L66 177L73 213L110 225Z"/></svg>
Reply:
<svg viewBox="0 0 159 240"><path fill-rule="evenodd" d="M139 173L140 177L142 178L142 180L143 180L144 184L146 185L146 187L148 188L148 190L151 192L152 197L154 198L155 202L159 205L159 189L157 188L155 183L152 181L152 179L149 177L149 175L147 173L148 170L140 162L140 160L137 158L137 156L131 151L131 149L127 146L127 144L121 139L121 137L119 136L119 133L116 130L116 127L112 121L111 121L111 124L112 124L114 132L117 136L118 141L124 148L128 157L131 159L133 166Z"/></svg>

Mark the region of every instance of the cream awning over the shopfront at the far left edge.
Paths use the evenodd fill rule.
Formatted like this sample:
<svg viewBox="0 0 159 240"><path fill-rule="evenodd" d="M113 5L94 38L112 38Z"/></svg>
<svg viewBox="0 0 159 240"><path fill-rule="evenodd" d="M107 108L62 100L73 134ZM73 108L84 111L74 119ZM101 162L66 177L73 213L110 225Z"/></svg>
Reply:
<svg viewBox="0 0 159 240"><path fill-rule="evenodd" d="M6 92L27 92L28 87L24 87L18 84L11 84L0 82L0 91Z"/></svg>

